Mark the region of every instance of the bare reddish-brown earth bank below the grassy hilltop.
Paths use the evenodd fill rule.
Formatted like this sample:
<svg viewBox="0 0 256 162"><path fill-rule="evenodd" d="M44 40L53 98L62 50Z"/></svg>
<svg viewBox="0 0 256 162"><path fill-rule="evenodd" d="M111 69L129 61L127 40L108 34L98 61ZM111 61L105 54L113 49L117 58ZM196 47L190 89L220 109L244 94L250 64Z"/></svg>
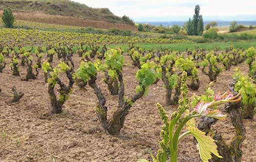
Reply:
<svg viewBox="0 0 256 162"><path fill-rule="evenodd" d="M0 10L0 15L3 11ZM61 16L61 15L50 15L44 12L25 12L25 11L15 11L13 12L17 20L24 21L34 21L41 23L59 24L59 25L71 25L71 26L81 26L81 27L92 27L100 29L120 29L120 30L130 30L137 32L136 26L124 23L112 23L104 20L92 20L76 18L71 16Z"/></svg>

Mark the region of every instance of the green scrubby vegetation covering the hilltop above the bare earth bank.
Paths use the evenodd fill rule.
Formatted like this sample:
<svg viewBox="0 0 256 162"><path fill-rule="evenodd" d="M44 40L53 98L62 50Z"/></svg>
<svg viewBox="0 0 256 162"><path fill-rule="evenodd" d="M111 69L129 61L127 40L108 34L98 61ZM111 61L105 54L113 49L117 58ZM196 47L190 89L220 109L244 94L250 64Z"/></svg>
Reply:
<svg viewBox="0 0 256 162"><path fill-rule="evenodd" d="M41 11L54 15L105 20L116 23L127 23L121 17L114 15L108 8L91 8L69 0L2 0L0 9L10 7L18 11Z"/></svg>

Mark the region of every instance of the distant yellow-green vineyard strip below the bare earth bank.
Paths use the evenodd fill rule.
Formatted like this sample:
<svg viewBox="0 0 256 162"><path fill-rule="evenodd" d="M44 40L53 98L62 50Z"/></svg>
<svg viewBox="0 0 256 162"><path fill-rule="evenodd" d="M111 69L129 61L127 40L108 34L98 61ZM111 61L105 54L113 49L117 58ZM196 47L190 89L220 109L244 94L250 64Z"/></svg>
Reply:
<svg viewBox="0 0 256 162"><path fill-rule="evenodd" d="M186 40L172 40L164 38L139 38L129 36L109 36L97 34L45 32L37 30L2 29L0 41L16 46L53 46L55 43L68 44L74 47L78 43L87 44L125 44L125 43L178 43ZM26 40L26 42L24 42ZM61 41L59 41L61 40Z"/></svg>

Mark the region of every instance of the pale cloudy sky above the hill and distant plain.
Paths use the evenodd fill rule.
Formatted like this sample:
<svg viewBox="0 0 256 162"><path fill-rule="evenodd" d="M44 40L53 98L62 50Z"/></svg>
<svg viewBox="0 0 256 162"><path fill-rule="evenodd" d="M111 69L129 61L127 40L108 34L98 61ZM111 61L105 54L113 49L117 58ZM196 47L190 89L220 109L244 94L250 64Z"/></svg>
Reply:
<svg viewBox="0 0 256 162"><path fill-rule="evenodd" d="M93 8L109 8L135 21L184 21L196 5L204 20L256 20L255 0L73 0Z"/></svg>

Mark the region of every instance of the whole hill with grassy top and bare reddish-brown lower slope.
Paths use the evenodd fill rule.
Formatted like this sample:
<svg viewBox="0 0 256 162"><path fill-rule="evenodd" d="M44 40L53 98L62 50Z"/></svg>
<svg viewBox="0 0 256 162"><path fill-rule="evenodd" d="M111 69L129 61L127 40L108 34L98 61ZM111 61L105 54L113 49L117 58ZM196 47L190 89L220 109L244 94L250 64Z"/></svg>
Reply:
<svg viewBox="0 0 256 162"><path fill-rule="evenodd" d="M137 31L133 23L108 8L91 8L69 0L0 0L0 10L5 8L11 8L17 19L25 21Z"/></svg>

